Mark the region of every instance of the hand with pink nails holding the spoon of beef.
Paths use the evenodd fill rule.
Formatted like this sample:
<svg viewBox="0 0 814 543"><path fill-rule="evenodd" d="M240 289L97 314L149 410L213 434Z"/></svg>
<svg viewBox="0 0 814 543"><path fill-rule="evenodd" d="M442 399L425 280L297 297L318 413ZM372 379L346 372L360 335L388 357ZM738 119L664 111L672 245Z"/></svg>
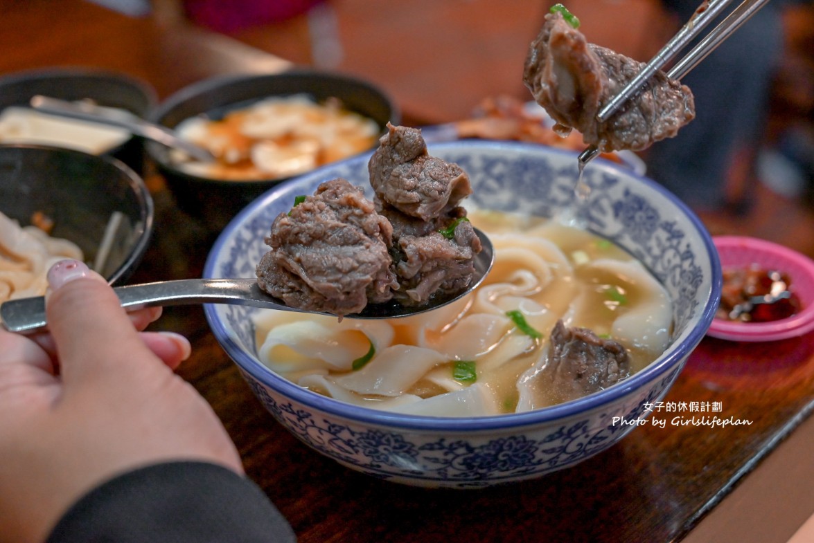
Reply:
<svg viewBox="0 0 814 543"><path fill-rule="evenodd" d="M84 493L151 463L199 460L243 473L208 403L173 373L189 342L139 332L160 309L126 313L77 261L48 278L49 332L0 328L0 533L44 541Z"/></svg>

